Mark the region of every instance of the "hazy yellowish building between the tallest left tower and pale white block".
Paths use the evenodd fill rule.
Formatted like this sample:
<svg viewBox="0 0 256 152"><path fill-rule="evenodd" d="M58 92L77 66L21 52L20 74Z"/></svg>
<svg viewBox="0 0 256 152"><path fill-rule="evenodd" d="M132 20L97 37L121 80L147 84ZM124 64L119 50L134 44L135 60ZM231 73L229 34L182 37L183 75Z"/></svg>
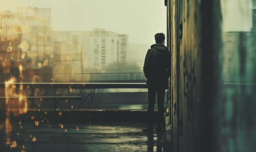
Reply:
<svg viewBox="0 0 256 152"><path fill-rule="evenodd" d="M74 75L54 76L57 81L81 81L82 60L80 48L80 33L70 31L53 31L54 66L53 73Z"/></svg>

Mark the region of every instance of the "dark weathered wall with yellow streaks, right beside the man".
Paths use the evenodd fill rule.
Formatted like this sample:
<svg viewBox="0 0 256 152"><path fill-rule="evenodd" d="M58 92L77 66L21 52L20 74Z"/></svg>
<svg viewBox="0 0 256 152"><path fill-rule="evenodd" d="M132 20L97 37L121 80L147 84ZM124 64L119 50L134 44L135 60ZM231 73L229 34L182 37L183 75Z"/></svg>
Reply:
<svg viewBox="0 0 256 152"><path fill-rule="evenodd" d="M220 84L221 15L218 0L168 0L172 52L173 151L218 151L214 129ZM221 70L220 70L221 71Z"/></svg>

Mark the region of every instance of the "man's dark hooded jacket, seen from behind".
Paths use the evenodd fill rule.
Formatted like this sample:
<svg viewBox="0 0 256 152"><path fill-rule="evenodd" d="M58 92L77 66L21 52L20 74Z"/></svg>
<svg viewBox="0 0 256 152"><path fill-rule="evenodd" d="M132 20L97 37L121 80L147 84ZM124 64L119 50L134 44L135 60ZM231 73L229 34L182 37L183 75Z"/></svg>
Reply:
<svg viewBox="0 0 256 152"><path fill-rule="evenodd" d="M168 88L168 77L171 75L171 53L166 46L157 43L148 49L143 71L148 88Z"/></svg>

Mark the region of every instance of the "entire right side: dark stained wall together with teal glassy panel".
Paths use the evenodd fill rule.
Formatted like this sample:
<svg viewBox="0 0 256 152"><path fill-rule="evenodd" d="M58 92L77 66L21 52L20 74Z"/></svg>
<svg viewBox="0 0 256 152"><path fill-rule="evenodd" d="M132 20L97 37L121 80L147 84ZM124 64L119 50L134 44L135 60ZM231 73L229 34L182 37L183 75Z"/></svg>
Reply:
<svg viewBox="0 0 256 152"><path fill-rule="evenodd" d="M255 2L248 2L167 1L175 152L256 149Z"/></svg>

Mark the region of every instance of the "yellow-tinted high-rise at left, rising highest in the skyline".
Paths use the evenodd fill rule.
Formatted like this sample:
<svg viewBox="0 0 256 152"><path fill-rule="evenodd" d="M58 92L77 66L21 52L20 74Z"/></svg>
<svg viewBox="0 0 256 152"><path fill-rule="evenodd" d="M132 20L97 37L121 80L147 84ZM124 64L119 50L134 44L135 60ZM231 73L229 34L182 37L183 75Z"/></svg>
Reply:
<svg viewBox="0 0 256 152"><path fill-rule="evenodd" d="M51 9L18 7L22 26L23 46L32 60L33 68L52 66Z"/></svg>

